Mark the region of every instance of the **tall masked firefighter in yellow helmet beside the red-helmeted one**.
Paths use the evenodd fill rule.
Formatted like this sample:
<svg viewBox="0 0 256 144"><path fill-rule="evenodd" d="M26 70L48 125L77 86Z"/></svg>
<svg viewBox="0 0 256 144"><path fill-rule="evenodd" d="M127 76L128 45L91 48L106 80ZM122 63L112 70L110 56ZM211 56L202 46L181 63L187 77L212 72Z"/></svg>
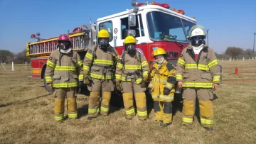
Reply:
<svg viewBox="0 0 256 144"><path fill-rule="evenodd" d="M117 50L109 44L110 34L105 29L99 31L97 38L98 44L92 45L83 62L84 82L90 91L88 120L100 114L108 116L111 92L114 91L114 67L119 57Z"/></svg>

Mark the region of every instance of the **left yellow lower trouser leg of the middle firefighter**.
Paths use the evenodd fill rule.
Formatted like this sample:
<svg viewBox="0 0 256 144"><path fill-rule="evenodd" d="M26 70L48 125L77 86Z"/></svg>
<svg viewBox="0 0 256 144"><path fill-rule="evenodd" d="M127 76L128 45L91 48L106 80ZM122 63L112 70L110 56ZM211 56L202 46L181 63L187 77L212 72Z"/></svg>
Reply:
<svg viewBox="0 0 256 144"><path fill-rule="evenodd" d="M125 108L125 118L127 118L127 120L130 120L135 116L132 93L124 93L123 99Z"/></svg>

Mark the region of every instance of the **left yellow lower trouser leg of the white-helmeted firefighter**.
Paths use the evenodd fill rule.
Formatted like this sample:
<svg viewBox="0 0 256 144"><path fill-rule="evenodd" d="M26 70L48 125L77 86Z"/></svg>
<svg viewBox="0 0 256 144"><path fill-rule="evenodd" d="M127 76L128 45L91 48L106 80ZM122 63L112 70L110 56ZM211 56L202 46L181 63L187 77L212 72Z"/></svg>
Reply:
<svg viewBox="0 0 256 144"><path fill-rule="evenodd" d="M193 123L194 101L187 101L184 99L182 113L182 124L191 125Z"/></svg>

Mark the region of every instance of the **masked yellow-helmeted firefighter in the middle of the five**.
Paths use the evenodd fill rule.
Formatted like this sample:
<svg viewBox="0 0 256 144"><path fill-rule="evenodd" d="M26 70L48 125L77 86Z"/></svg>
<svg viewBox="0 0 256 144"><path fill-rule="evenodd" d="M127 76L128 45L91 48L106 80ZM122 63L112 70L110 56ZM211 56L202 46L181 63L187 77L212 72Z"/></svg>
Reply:
<svg viewBox="0 0 256 144"><path fill-rule="evenodd" d="M123 92L126 118L135 116L133 92L137 104L139 120L147 119L146 110L146 80L149 74L149 64L143 53L136 50L136 40L129 35L124 39L124 53L119 57L116 68L116 87Z"/></svg>

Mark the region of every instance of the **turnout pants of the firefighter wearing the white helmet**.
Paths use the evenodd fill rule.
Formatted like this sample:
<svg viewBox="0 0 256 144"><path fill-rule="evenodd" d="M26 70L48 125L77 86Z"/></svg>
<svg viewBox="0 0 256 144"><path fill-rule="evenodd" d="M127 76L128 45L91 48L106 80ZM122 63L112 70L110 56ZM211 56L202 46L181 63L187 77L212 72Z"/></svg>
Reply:
<svg viewBox="0 0 256 144"><path fill-rule="evenodd" d="M212 89L186 88L183 91L183 124L192 124L196 108L196 96L199 101L200 120L203 127L212 127L213 99Z"/></svg>

